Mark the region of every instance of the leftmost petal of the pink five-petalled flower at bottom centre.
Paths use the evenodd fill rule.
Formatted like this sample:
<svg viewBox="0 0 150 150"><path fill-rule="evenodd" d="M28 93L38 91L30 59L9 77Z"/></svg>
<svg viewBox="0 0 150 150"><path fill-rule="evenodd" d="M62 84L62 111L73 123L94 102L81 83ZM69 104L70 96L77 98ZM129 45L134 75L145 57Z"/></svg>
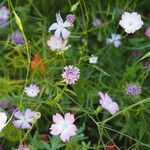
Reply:
<svg viewBox="0 0 150 150"><path fill-rule="evenodd" d="M50 130L52 135L59 135L62 132L62 126L59 124L52 124Z"/></svg>

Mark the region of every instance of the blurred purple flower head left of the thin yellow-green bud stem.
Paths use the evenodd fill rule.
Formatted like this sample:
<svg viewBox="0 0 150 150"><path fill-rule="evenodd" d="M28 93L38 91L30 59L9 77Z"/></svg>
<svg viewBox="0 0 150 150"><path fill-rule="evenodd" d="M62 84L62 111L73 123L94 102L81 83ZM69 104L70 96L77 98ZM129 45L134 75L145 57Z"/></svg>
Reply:
<svg viewBox="0 0 150 150"><path fill-rule="evenodd" d="M8 36L8 39L15 45L22 45L24 44L24 38L19 31L15 31Z"/></svg>

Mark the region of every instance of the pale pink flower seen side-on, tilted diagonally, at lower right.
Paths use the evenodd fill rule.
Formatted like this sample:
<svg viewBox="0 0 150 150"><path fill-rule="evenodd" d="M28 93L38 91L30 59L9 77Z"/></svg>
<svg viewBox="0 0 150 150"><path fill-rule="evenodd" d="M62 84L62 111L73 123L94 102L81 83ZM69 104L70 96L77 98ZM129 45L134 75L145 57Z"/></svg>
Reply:
<svg viewBox="0 0 150 150"><path fill-rule="evenodd" d="M112 115L114 115L118 110L118 104L116 102L113 102L111 97L107 93L98 92L98 95L100 96L99 103L103 108L108 110Z"/></svg>

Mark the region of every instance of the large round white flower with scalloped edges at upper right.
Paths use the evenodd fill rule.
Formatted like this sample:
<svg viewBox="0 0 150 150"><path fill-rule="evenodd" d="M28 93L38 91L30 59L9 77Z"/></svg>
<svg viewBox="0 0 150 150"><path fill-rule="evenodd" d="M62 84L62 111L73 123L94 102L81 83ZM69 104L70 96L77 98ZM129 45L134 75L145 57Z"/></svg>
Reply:
<svg viewBox="0 0 150 150"><path fill-rule="evenodd" d="M143 25L141 16L136 12L124 12L121 19L122 20L119 21L119 25L122 26L127 33L134 33L135 31L139 30Z"/></svg>

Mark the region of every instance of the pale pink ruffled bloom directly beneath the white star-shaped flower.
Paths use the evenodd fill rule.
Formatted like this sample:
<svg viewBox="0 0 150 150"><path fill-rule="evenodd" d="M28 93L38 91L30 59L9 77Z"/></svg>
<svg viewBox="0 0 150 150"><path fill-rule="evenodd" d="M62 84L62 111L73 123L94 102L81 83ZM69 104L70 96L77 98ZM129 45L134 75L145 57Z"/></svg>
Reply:
<svg viewBox="0 0 150 150"><path fill-rule="evenodd" d="M52 51L59 51L63 52L67 50L69 46L67 46L67 40L63 40L61 37L51 36L50 39L47 41L47 45Z"/></svg>

